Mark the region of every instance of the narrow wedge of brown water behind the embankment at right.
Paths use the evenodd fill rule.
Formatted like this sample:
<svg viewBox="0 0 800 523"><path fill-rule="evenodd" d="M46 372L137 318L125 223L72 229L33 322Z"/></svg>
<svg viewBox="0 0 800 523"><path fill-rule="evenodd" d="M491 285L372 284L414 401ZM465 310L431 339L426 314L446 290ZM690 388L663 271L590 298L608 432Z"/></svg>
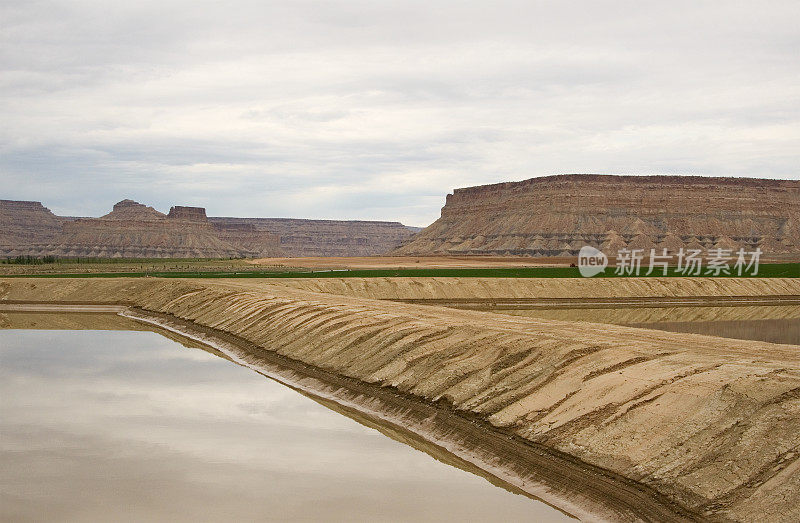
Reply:
<svg viewBox="0 0 800 523"><path fill-rule="evenodd" d="M502 314L591 321L800 345L799 305L738 307L625 307L602 309L496 310Z"/></svg>

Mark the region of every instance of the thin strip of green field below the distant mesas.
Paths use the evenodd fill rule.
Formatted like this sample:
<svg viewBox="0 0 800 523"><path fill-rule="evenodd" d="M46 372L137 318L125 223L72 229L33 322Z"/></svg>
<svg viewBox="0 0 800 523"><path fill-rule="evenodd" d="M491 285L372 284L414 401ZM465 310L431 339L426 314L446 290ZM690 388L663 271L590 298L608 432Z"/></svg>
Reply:
<svg viewBox="0 0 800 523"><path fill-rule="evenodd" d="M243 268L242 268L243 269ZM617 276L613 267L608 274L595 278L646 278L663 277L662 270L651 276ZM705 271L704 271L705 272ZM670 268L668 277L685 277L675 268ZM701 276L709 276L701 274ZM800 263L771 263L759 266L755 278L800 278ZM356 269L356 270L131 270L118 272L49 272L0 275L0 278L580 278L576 267L519 267L519 268L475 268L475 269ZM720 277L736 277L735 274Z"/></svg>

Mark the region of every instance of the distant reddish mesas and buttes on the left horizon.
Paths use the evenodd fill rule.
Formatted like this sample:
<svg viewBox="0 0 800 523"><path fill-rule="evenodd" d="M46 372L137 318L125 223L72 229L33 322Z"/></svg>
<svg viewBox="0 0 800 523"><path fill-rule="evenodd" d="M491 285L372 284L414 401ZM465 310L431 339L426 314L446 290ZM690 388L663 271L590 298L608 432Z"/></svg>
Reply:
<svg viewBox="0 0 800 523"><path fill-rule="evenodd" d="M416 231L397 222L208 218L122 200L100 218L59 217L39 202L0 200L0 256L229 258L382 254Z"/></svg>

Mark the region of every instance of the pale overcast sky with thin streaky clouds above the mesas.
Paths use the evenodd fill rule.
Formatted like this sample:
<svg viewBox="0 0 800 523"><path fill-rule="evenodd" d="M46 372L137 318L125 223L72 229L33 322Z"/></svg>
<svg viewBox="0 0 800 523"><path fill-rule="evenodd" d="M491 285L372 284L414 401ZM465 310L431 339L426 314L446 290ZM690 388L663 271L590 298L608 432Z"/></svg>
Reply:
<svg viewBox="0 0 800 523"><path fill-rule="evenodd" d="M0 198L425 226L561 173L800 179L800 2L0 0Z"/></svg>

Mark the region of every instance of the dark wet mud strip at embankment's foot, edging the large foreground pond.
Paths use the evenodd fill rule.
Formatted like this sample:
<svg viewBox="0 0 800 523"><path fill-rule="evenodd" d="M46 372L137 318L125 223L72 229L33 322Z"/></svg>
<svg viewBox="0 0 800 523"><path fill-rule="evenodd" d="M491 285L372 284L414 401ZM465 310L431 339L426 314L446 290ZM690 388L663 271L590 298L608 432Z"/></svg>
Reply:
<svg viewBox="0 0 800 523"><path fill-rule="evenodd" d="M119 314L208 345L234 363L304 394L409 431L501 482L582 521L701 519L700 515L663 498L646 485L535 445L474 416L465 416L444 402L434 404L390 387L332 374L254 346L230 333L163 313L131 307ZM537 469L550 471L550 474L532 472ZM553 478L560 478L560 481ZM585 488L575 488L575 485Z"/></svg>

